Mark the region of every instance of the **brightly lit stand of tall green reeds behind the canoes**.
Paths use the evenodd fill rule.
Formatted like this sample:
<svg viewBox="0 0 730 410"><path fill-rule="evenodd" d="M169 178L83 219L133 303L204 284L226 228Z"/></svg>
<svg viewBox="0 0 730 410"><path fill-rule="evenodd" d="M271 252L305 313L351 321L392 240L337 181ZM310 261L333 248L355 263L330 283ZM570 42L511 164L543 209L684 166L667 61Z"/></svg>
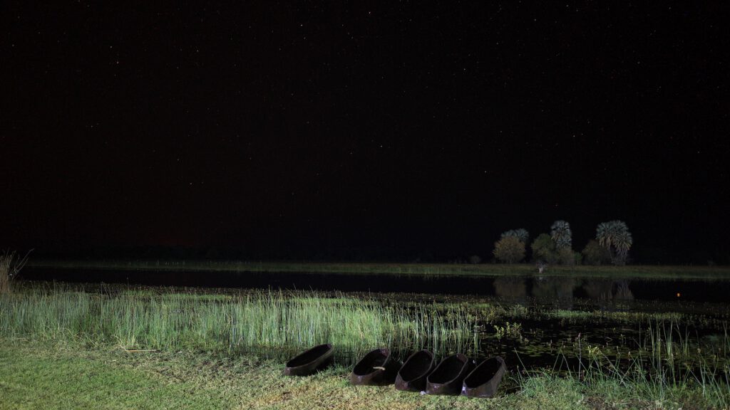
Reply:
<svg viewBox="0 0 730 410"><path fill-rule="evenodd" d="M402 355L475 353L476 326L462 308L297 297L258 292L230 298L177 293L103 295L24 290L0 295L0 335L114 344L125 349L199 349L286 357L332 343L342 363L375 347Z"/></svg>

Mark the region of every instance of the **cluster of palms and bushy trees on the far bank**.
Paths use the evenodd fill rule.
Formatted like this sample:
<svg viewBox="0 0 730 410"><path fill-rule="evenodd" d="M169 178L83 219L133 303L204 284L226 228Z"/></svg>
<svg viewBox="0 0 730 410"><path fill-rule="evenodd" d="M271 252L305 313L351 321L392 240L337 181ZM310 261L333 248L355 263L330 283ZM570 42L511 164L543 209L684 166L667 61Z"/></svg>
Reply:
<svg viewBox="0 0 730 410"><path fill-rule="evenodd" d="M521 262L525 259L529 236L529 232L522 228L502 233L494 242L494 257L504 263ZM556 220L550 226L550 233L540 233L531 242L532 259L559 265L625 265L634 243L629 227L621 220L599 223L596 238L588 241L581 252L573 250L572 241L570 224Z"/></svg>

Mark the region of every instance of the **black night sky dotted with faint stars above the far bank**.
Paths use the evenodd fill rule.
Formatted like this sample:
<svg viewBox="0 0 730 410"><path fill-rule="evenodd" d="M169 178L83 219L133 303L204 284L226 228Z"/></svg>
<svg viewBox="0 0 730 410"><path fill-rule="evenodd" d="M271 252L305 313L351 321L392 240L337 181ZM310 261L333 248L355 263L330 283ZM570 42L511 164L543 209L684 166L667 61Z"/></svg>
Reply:
<svg viewBox="0 0 730 410"><path fill-rule="evenodd" d="M729 261L726 9L151 3L1 6L0 249Z"/></svg>

